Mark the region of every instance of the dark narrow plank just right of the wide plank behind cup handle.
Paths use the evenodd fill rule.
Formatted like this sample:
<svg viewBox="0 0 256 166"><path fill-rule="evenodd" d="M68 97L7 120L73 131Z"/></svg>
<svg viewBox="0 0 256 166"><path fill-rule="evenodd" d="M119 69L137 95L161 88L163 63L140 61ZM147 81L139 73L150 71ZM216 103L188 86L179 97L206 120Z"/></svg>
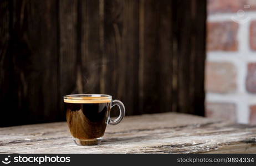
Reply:
<svg viewBox="0 0 256 166"><path fill-rule="evenodd" d="M140 102L142 105L142 111L143 113L154 113L157 112L157 110L160 107L159 102L159 87L157 86L157 82L159 81L159 75L158 75L158 63L159 59L157 58L157 49L158 49L158 15L157 15L157 3L156 1L150 0L150 1L144 1L142 3L144 5L144 13L143 16L143 22L144 24L141 24L143 27L142 33L144 42L144 48L142 48L144 51L143 56L143 98L141 98ZM141 7L140 7L141 8ZM141 65L141 64L140 64ZM152 68L152 66L154 68Z"/></svg>

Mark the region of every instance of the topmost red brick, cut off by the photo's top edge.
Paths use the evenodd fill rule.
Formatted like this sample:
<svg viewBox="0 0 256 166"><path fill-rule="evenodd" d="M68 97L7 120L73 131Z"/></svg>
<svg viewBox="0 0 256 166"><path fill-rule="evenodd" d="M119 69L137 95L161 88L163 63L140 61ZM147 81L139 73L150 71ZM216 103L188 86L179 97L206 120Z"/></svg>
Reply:
<svg viewBox="0 0 256 166"><path fill-rule="evenodd" d="M250 8L244 8L244 5L249 5ZM239 9L243 11L255 11L255 0L208 0L208 13L235 13Z"/></svg>

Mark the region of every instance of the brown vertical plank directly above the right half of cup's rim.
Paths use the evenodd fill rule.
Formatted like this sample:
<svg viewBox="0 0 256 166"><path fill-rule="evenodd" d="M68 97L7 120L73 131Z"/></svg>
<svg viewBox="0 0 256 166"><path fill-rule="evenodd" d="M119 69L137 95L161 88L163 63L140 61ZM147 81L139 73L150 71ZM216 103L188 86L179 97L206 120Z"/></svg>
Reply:
<svg viewBox="0 0 256 166"><path fill-rule="evenodd" d="M83 92L100 94L100 1L81 1L81 77Z"/></svg>

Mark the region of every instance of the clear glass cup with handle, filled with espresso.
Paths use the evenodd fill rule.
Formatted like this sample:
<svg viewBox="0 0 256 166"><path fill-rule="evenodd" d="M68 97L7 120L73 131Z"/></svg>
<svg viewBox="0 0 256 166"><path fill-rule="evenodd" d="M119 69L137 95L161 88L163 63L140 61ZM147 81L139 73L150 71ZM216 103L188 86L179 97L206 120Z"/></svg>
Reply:
<svg viewBox="0 0 256 166"><path fill-rule="evenodd" d="M99 144L106 125L117 125L125 115L124 104L112 101L110 95L78 94L64 96L66 121L76 144L89 146ZM110 110L117 105L120 116L111 120Z"/></svg>

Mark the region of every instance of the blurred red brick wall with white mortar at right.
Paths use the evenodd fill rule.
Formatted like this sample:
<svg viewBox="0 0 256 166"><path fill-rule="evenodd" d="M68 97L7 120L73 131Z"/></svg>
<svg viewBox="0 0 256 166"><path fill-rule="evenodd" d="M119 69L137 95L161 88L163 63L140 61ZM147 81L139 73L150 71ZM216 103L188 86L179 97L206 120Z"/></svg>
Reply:
<svg viewBox="0 0 256 166"><path fill-rule="evenodd" d="M256 0L208 0L206 115L256 124Z"/></svg>

